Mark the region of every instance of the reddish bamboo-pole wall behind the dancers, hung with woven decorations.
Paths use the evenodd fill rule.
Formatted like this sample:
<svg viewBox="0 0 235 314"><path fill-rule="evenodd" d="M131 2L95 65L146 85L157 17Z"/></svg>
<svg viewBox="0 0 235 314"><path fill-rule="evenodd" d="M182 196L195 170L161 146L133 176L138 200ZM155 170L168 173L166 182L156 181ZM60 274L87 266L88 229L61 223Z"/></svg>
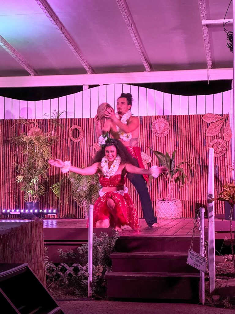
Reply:
<svg viewBox="0 0 235 314"><path fill-rule="evenodd" d="M173 196L180 198L183 203L183 217L194 217L195 209L201 205L206 207L207 192L207 171L208 171L208 150L209 143L214 138L223 138L223 125L216 137L206 137L207 123L202 120L203 115L172 115L165 117L170 123L170 132L164 138L158 138L151 132L151 124L160 116L140 116L140 135L139 146L143 151L152 156L148 147L159 150L163 153L166 151L170 154L177 149L176 162L192 158L196 170L197 177L194 177L188 187L184 187L178 191L175 187ZM43 130L50 129L50 120L36 119L39 127ZM8 138L13 135L14 129L18 133L28 131L30 126L22 127L15 125L17 120L0 120L0 129L2 136L0 137L0 207L1 209L24 208L24 198L20 192L19 186L15 183L16 174L13 169L14 147L8 142ZM63 118L60 119L63 128L58 130L60 141L53 148L53 157L62 160L70 160L72 165L87 165L91 156L95 153L93 143L97 142L94 130L93 118ZM14 126L15 125L15 126ZM84 138L81 142L73 142L70 140L68 133L72 125L79 125L84 131ZM74 133L73 133L74 134ZM76 135L74 135L76 137ZM215 193L221 190L221 186L226 181L231 181L232 172L228 165L231 165L231 143L227 143L227 150L222 157L215 158ZM156 157L153 156L152 164L158 164ZM59 211L58 218L83 218L83 209L79 208L72 200L69 203L64 202L62 197L62 205L55 201L53 193L50 191L52 184L60 178L59 169L53 168L50 172L50 181L47 186L47 193L41 200L41 208L57 208ZM131 197L134 200L139 217L142 216L141 206L138 196L133 187L128 183ZM68 190L65 188L64 194ZM150 196L155 207L156 199L167 196L166 182L163 177L154 180L150 187ZM216 205L216 213L222 213L221 203Z"/></svg>

